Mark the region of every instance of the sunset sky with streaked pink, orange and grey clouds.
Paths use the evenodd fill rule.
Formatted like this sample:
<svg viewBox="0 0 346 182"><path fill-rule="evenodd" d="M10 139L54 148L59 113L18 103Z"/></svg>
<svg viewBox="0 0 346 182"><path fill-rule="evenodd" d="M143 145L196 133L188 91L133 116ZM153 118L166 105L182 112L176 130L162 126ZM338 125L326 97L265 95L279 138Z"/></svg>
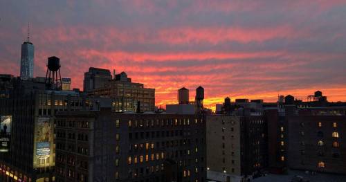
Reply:
<svg viewBox="0 0 346 182"><path fill-rule="evenodd" d="M60 57L82 89L89 67L127 72L156 89L206 89L207 107L230 98L346 101L346 1L0 1L0 73L19 75L30 22L35 76ZM234 101L234 100L233 100Z"/></svg>

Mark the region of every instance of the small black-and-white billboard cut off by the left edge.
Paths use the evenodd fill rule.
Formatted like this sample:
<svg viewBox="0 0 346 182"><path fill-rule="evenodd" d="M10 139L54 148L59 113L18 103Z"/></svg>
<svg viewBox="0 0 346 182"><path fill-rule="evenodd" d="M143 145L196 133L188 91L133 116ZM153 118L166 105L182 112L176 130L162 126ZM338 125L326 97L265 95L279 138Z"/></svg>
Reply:
<svg viewBox="0 0 346 182"><path fill-rule="evenodd" d="M12 116L0 116L0 152L10 150Z"/></svg>

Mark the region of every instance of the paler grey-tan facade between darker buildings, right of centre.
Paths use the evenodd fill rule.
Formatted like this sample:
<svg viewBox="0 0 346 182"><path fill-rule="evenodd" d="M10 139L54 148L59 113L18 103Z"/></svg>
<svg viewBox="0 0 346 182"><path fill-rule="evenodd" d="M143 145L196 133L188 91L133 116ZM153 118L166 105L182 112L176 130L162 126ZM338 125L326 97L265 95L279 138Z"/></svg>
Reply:
<svg viewBox="0 0 346 182"><path fill-rule="evenodd" d="M213 181L241 181L240 117L207 116L207 176Z"/></svg>

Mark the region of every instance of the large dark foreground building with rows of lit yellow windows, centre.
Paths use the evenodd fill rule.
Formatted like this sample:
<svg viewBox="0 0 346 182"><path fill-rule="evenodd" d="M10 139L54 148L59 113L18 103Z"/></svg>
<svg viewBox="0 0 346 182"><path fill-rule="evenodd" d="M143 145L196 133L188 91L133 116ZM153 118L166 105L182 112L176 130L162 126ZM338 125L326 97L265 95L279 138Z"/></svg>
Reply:
<svg viewBox="0 0 346 182"><path fill-rule="evenodd" d="M55 181L206 181L206 122L196 114L62 111Z"/></svg>

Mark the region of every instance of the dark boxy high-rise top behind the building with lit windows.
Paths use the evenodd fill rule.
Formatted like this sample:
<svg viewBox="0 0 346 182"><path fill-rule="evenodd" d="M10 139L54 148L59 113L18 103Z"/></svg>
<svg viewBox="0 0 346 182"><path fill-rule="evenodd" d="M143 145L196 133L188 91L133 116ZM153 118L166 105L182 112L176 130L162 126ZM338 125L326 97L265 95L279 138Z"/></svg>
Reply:
<svg viewBox="0 0 346 182"><path fill-rule="evenodd" d="M111 80L111 72L108 69L91 67L88 72L84 73L84 92L102 88L109 80Z"/></svg>

